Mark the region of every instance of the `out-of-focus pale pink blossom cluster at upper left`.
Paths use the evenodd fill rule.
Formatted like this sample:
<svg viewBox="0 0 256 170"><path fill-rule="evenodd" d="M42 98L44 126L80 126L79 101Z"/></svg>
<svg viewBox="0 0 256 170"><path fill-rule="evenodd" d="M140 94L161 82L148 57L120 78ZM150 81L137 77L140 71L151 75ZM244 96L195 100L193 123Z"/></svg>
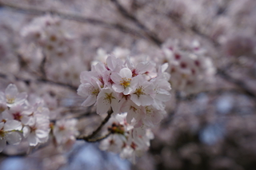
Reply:
<svg viewBox="0 0 256 170"><path fill-rule="evenodd" d="M73 38L62 29L61 20L50 15L34 18L21 34L27 42L36 44L50 58L54 56L54 59L62 59L73 53Z"/></svg>

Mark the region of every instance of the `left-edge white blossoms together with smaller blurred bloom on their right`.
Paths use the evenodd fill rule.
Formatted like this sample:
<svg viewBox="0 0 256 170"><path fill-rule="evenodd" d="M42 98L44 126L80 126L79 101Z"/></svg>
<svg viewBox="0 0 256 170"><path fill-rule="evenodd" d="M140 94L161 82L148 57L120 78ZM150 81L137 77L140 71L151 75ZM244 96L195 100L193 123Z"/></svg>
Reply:
<svg viewBox="0 0 256 170"><path fill-rule="evenodd" d="M16 85L0 92L0 152L8 144L19 144L22 138L30 146L45 143L53 136L54 144L67 150L78 136L77 120L60 119L50 123L52 117L46 102L34 95L18 93Z"/></svg>

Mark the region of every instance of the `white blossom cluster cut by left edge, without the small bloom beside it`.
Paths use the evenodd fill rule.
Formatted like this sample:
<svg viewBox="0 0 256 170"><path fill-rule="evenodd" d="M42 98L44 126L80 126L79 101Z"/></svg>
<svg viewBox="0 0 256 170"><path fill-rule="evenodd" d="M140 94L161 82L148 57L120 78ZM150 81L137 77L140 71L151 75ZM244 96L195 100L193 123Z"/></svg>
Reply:
<svg viewBox="0 0 256 170"><path fill-rule="evenodd" d="M39 97L27 100L26 93L18 93L16 85L0 92L0 151L8 144L19 144L22 136L30 146L49 138L49 109Z"/></svg>

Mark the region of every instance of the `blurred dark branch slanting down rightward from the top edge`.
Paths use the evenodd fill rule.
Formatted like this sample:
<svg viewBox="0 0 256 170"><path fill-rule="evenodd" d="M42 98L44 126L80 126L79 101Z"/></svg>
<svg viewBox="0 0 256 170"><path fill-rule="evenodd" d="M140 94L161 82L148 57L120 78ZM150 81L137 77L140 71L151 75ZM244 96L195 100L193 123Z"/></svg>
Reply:
<svg viewBox="0 0 256 170"><path fill-rule="evenodd" d="M114 3L114 5L117 7L118 11L124 18L129 19L131 22L134 22L136 26L138 26L142 31L146 34L146 37L149 38L152 42L154 42L155 45L161 46L162 45L162 40L157 37L157 35L150 31L145 25L142 24L136 18L134 15L130 14L119 2L118 0L111 0L111 2Z"/></svg>

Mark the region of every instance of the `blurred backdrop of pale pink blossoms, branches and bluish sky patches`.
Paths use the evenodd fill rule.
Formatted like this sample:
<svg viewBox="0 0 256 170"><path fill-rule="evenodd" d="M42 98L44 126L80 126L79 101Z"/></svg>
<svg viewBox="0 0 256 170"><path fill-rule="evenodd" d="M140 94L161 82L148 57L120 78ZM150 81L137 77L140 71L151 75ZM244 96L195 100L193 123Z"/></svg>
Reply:
<svg viewBox="0 0 256 170"><path fill-rule="evenodd" d="M44 16L54 18L50 42L30 34L49 24ZM15 83L36 93L52 119L78 117L85 133L96 127L101 118L80 106L76 89L79 74L105 53L168 62L172 85L166 117L136 164L77 141L68 152L48 144L29 155L26 144L10 146L0 169L254 170L255 46L254 0L0 0L0 90ZM176 74L166 49L200 56L203 69Z"/></svg>

